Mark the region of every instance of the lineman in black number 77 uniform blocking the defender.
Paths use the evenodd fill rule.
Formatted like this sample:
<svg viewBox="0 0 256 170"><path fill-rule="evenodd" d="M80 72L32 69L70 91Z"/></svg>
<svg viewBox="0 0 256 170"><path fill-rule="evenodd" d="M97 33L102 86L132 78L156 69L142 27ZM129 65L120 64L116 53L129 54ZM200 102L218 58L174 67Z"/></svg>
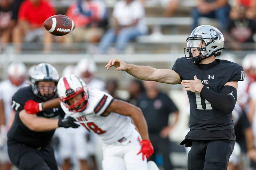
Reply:
<svg viewBox="0 0 256 170"><path fill-rule="evenodd" d="M31 75L31 85L20 88L12 97L12 108L16 114L7 133L7 145L10 160L19 170L57 170L50 145L55 129L79 126L71 117L62 119L65 113L57 108L60 105L54 109L43 109L48 107L43 102L54 98L58 100L58 80L58 72L51 64L39 64ZM38 110L37 114L24 110L25 103L32 100L35 102L29 106Z"/></svg>

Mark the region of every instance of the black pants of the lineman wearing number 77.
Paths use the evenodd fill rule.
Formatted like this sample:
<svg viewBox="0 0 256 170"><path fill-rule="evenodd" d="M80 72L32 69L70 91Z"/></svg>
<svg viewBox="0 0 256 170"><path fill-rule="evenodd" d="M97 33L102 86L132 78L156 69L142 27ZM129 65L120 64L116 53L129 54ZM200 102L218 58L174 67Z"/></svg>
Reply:
<svg viewBox="0 0 256 170"><path fill-rule="evenodd" d="M20 143L7 141L10 161L19 170L58 170L51 145L31 148Z"/></svg>

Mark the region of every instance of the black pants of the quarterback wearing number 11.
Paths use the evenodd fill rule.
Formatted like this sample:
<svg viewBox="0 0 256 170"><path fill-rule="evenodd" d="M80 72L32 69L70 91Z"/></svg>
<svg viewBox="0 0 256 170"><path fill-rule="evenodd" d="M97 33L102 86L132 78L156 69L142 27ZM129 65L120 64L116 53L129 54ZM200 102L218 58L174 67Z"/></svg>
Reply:
<svg viewBox="0 0 256 170"><path fill-rule="evenodd" d="M188 170L226 170L234 145L230 140L192 140Z"/></svg>

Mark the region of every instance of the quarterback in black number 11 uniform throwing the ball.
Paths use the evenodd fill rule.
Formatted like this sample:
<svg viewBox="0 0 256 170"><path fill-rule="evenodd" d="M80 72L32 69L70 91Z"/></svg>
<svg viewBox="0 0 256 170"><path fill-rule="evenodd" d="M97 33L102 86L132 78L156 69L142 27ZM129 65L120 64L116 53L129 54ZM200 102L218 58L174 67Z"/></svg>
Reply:
<svg viewBox="0 0 256 170"><path fill-rule="evenodd" d="M226 169L236 140L232 110L237 101L237 81L244 80L243 68L215 59L224 48L223 34L211 25L195 28L187 38L185 57L172 69L127 64L111 59L105 66L143 80L180 84L190 103L190 131L180 145L191 147L188 169Z"/></svg>

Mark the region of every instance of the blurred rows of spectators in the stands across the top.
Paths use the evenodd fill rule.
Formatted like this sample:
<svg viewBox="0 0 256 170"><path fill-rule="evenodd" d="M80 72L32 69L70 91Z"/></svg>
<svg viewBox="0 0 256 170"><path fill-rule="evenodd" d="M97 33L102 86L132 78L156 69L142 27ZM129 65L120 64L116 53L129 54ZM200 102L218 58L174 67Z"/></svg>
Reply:
<svg viewBox="0 0 256 170"><path fill-rule="evenodd" d="M64 1L64 0L61 0ZM43 28L50 16L60 14L57 0L1 0L1 51L10 44L16 53L22 52L23 42L41 42L43 52L50 53L52 43L72 44L87 42L91 53L123 53L136 37L153 32L146 22L149 1L158 3L162 16L173 17L182 9L184 0L114 0L111 7L104 0L69 1L61 14L70 17L76 29L66 36L54 37ZM193 0L188 16L199 25L201 17L214 18L225 34L228 48L241 50L254 42L256 2L254 0ZM67 3L66 3L67 4ZM150 14L152 15L152 14ZM154 16L153 16L154 17ZM159 16L158 16L159 17ZM161 30L160 30L161 31ZM247 46L248 48L248 46Z"/></svg>

